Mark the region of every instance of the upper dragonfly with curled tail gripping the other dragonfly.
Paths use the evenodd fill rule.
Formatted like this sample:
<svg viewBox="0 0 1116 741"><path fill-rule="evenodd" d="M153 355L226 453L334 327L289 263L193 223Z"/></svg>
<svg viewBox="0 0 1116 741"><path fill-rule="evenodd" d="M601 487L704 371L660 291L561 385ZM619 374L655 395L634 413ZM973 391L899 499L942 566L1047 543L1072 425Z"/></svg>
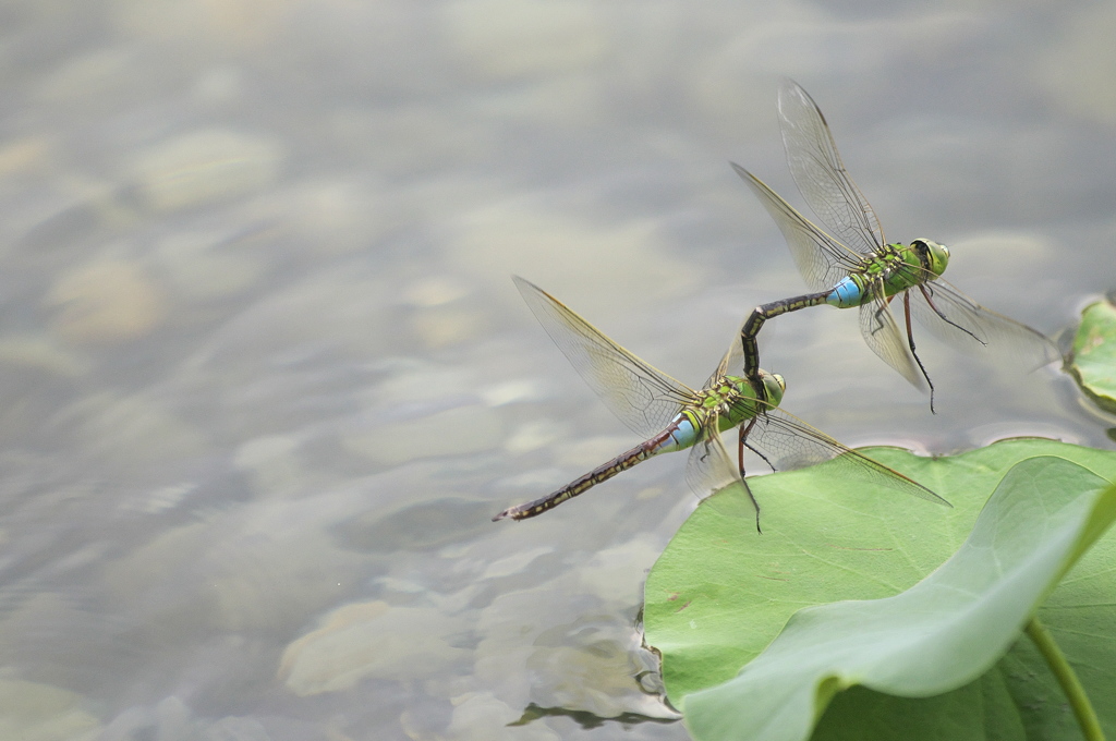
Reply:
<svg viewBox="0 0 1116 741"><path fill-rule="evenodd" d="M875 211L845 170L829 125L814 99L798 84L785 80L779 90L779 122L790 172L827 233L759 177L732 163L744 183L779 225L812 293L757 307L741 329L744 375L756 383L759 350L756 337L768 319L811 306L859 307L860 334L868 347L921 391L934 384L915 350L912 315L931 334L962 350L992 347L1036 369L1061 358L1043 334L985 309L942 280L950 250L929 239L887 243ZM905 341L892 306L902 306Z"/></svg>

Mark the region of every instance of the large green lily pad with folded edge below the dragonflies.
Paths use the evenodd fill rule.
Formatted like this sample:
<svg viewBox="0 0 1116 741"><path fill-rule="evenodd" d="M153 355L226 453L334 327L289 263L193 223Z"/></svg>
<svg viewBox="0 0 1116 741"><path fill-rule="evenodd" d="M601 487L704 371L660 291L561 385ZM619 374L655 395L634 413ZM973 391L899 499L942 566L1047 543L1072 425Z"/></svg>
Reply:
<svg viewBox="0 0 1116 741"><path fill-rule="evenodd" d="M954 509L868 491L857 482L827 480L826 466L815 466L750 481L760 502L768 504L764 535L749 533L743 527L748 517L744 502L714 497L683 526L655 565L646 587L646 639L663 655L668 696L685 713L691 731L699 739L805 738L829 699L852 684L926 695L968 682L929 700L893 697L864 687L843 693L822 719L818 737L877 738L870 732L873 724L878 738L896 738L897 729L903 729L904 738L966 738L966 724L972 726L972 738L1019 735L1012 729L1020 734L1041 729L1041 738L1058 738L1051 732L1056 728L1079 733L1071 716L1067 722L1065 699L1049 679L1049 670L1026 642L1012 648L997 671L984 672L1017 639L1036 602L1116 511L1098 512L1089 519L1090 508L1101 501L1097 492L1105 481L1100 479L1116 479L1116 453L1054 441L1013 440L955 458L920 459L894 449L874 449L870 454L946 497ZM924 583L929 587L920 587L940 590L939 598L929 604L947 607L944 613L951 623L945 631L935 622L943 619L942 610L935 613L926 604L917 608L904 604L910 596L894 597L958 551L989 493L1012 466L1036 456L1055 458L1028 461L1014 471L998 494L1008 503L990 503L984 514L995 520L994 527L984 522L977 530L1002 541L992 540L983 550L970 541L958 556L964 552L973 559L984 552L1000 559L1002 566L1010 552L1036 562L1012 571L1014 580L974 570L975 560L964 568L954 566L952 571L943 567L945 575L952 572L961 581L942 581L944 577L935 575ZM1116 492L1104 500L1109 509L1116 508L1114 498ZM1074 506L1085 509L1076 511ZM1031 529L1024 527L1028 522ZM1094 529L1083 535L1083 522ZM1022 533L1036 537L1036 530L1042 548L1020 547ZM1066 535L1070 531L1072 537ZM1048 549L1056 536L1065 546L1061 551ZM1116 664L1113 540L1107 539L1096 551L1101 560L1090 567L1095 578L1079 583L1079 568L1065 585L1068 589L1059 589L1050 598L1048 604L1056 612L1045 617L1059 641L1067 632L1070 638L1079 638L1075 631L1090 631L1084 639L1069 641L1065 649L1071 664L1083 662L1079 674L1086 689L1096 691L1094 697L1105 699L1116 697L1116 670L1112 668ZM1085 564L1091 562L1089 557ZM954 595L959 584L962 591ZM1097 589L1107 589L1107 596L1098 596ZM951 602L974 590L980 598L964 609L962 603ZM925 600L930 593L921 594ZM918 595L915 591L915 597ZM887 597L899 600L898 608L883 599ZM872 610L859 612L866 609L864 603L831 605L791 619L802 607L838 599L876 599L881 600L875 603L877 608L883 603L897 609L892 615L901 617L899 633L895 634L899 637L882 632L876 624L865 643L862 628L882 618ZM1004 617L1006 610L1011 612L1008 607L1014 609L1013 620ZM845 628L818 622L835 616L838 625L846 620ZM790 637L772 643L788 619ZM931 649L914 641L917 636L902 639L903 627L922 635L927 626L939 631ZM837 654L848 648L845 658L819 667L816 662L834 660L834 652L827 654L821 644L804 643L801 636L810 634L829 639ZM768 644L775 653L737 677ZM884 653L896 645L913 654ZM785 653L781 661L770 658L788 647L797 647L797 653ZM913 656L921 656L923 664ZM756 676L764 679L759 685L749 684ZM716 686L721 684L724 686ZM787 697L797 697L799 704L788 704ZM1021 697L1029 701L1023 703ZM1097 710L1103 723L1116 724L1116 708ZM719 734L725 729L731 733Z"/></svg>

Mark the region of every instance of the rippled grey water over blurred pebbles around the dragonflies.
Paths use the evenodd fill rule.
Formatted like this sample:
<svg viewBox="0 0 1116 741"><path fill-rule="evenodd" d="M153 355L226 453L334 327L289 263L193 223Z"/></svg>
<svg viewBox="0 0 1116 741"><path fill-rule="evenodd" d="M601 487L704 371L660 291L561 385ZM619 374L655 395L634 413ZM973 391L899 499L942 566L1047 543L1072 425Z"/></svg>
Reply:
<svg viewBox="0 0 1116 741"><path fill-rule="evenodd" d="M637 628L684 456L489 521L636 442L508 277L700 383L804 288L727 164L797 195L789 75L892 240L1070 326L1116 285L1116 6L961 8L0 7L0 735L685 738ZM852 444L1112 446L1052 368L927 339L931 416L850 312L764 335Z"/></svg>

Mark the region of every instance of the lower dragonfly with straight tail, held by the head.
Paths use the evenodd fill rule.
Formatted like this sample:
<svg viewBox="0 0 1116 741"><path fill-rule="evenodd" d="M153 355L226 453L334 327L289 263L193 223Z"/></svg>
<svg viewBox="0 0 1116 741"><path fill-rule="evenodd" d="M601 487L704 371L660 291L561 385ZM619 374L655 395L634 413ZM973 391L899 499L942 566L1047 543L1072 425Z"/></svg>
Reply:
<svg viewBox="0 0 1116 741"><path fill-rule="evenodd" d="M763 459L773 470L800 468L834 460L836 474L863 477L921 499L949 506L916 481L846 448L829 435L778 408L787 384L782 376L758 371L763 398L744 377L728 375L742 363L740 344L733 339L716 371L699 391L675 381L624 349L565 304L535 283L513 277L527 305L581 377L612 412L633 432L645 437L565 487L503 510L493 521L523 520L547 512L593 487L661 453L691 449L686 482L700 497L734 489L760 507L744 481L744 449ZM737 460L729 454L721 433L738 429Z"/></svg>

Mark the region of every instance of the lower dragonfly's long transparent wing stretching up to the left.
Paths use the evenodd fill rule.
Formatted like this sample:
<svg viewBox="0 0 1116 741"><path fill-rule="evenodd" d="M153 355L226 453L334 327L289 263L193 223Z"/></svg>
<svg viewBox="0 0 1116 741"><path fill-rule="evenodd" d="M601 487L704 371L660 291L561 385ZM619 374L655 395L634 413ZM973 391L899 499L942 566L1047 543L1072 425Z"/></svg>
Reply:
<svg viewBox="0 0 1116 741"><path fill-rule="evenodd" d="M535 283L512 276L516 287L586 383L620 421L644 437L660 432L694 392L644 363Z"/></svg>

